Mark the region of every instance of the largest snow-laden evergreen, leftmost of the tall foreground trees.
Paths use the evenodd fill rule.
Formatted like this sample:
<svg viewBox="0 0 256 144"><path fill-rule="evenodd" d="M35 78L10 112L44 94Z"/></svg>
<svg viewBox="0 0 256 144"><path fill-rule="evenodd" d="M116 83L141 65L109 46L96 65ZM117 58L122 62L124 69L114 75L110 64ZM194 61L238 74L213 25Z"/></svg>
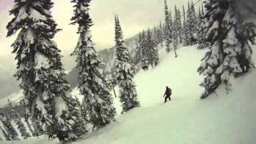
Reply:
<svg viewBox="0 0 256 144"><path fill-rule="evenodd" d="M51 0L14 1L10 10L14 18L6 28L7 36L19 31L12 45L18 60L15 77L21 80L29 115L37 117L42 113L46 134L66 141L71 127L66 110L70 85L66 81L60 50L52 41L59 31L50 14L53 5Z"/></svg>

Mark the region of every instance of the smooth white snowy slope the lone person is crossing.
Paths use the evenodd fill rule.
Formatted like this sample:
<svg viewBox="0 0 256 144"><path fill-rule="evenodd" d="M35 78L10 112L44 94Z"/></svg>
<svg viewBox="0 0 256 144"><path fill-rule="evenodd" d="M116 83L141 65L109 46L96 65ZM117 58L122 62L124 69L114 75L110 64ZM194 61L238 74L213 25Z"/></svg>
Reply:
<svg viewBox="0 0 256 144"><path fill-rule="evenodd" d="M202 88L198 84L202 77L196 70L205 51L195 46L182 47L178 49L178 58L174 58L172 51L166 54L163 48L159 53L159 65L154 70L141 70L134 78L142 107L119 115L118 122L87 134L74 144L256 142L255 70L231 78L230 94L221 86L216 94L200 100ZM166 86L172 88L173 95L171 102L163 104ZM119 113L118 98L114 101ZM58 143L58 140L40 137L14 143Z"/></svg>

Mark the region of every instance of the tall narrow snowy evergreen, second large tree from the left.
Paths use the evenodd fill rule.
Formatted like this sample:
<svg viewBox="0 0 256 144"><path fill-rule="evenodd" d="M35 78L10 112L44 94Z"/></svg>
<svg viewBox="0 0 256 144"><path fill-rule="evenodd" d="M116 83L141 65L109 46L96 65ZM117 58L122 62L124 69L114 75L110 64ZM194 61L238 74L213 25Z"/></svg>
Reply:
<svg viewBox="0 0 256 144"><path fill-rule="evenodd" d="M79 34L78 44L72 55L76 56L78 89L84 96L82 117L86 122L91 123L95 130L113 121L116 111L102 74L103 63L94 49L90 35L90 26L93 25L88 12L90 0L72 0L71 2L75 3L74 17L71 21L72 24L78 24Z"/></svg>

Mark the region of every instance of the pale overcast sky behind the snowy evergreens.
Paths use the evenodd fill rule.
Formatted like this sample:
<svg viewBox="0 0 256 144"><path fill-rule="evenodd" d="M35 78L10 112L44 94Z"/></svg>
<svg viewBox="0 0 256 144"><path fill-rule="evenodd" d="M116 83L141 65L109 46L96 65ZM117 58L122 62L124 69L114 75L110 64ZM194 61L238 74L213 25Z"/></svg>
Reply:
<svg viewBox="0 0 256 144"><path fill-rule="evenodd" d="M193 0L196 2L196 0ZM14 56L11 54L10 45L14 42L15 36L6 38L6 24L12 17L8 10L13 5L13 0L0 0L0 87L5 86L8 79L14 79L12 75L16 67ZM74 58L70 53L78 41L76 34L77 26L70 26L70 18L73 14L73 5L70 0L53 0L54 8L52 14L62 31L56 34L54 40L58 48L62 50L62 62L66 70L74 67ZM171 10L174 5L182 7L190 0L167 0ZM90 16L94 22L92 36L96 50L102 50L114 46L114 14L118 14L124 38L129 38L139 31L158 25L164 20L164 0L92 0ZM1 90L0 90L1 91ZM0 93L0 97L2 96Z"/></svg>

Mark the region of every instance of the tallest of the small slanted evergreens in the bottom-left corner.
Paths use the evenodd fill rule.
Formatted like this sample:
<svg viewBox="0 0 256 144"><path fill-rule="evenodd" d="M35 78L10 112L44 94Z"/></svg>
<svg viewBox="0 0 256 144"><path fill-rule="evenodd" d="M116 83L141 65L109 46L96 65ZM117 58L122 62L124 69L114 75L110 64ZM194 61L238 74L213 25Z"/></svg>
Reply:
<svg viewBox="0 0 256 144"><path fill-rule="evenodd" d="M10 118L14 120L20 134L22 135L22 138L24 139L30 138L30 134L27 132L26 126L22 122L20 114L18 114L18 112L14 110L13 104L11 102L9 102L9 108L10 108Z"/></svg>

